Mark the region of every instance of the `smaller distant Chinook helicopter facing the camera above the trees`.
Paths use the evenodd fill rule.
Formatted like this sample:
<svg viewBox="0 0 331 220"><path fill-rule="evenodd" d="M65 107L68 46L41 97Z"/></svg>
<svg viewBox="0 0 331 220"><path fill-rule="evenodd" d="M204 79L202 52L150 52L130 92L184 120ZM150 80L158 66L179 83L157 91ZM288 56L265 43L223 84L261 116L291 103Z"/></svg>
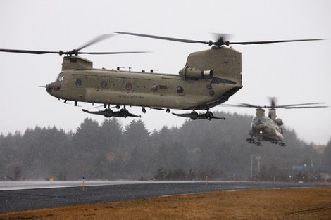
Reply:
<svg viewBox="0 0 331 220"><path fill-rule="evenodd" d="M268 141L271 143L279 144L284 147L284 137L282 119L276 118L277 108L327 108L328 106L318 105L324 103L304 103L304 104L291 104L291 105L276 105L275 98L270 98L270 105L251 105L242 103L238 105L227 105L234 107L244 108L256 108L256 117L251 121L251 128L249 129L249 135L251 138L247 138L246 141L255 145L261 146L261 141ZM318 105L318 106L311 106ZM265 116L265 108L268 108L268 117Z"/></svg>

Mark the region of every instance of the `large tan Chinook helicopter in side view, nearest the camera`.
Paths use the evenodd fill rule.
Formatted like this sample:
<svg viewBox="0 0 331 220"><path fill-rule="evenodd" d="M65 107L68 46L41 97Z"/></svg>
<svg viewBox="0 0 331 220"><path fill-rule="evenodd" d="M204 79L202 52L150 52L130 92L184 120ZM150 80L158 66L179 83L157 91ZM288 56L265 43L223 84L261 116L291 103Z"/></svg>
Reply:
<svg viewBox="0 0 331 220"><path fill-rule="evenodd" d="M163 109L191 110L184 114L174 114L191 119L224 119L213 116L209 110L224 103L230 96L242 88L242 54L228 47L232 44L271 44L294 41L316 41L321 39L299 39L284 41L252 41L230 42L220 36L217 41L194 41L170 37L159 37L129 32L114 32L139 37L150 37L184 43L201 43L211 46L206 51L189 54L187 63L179 71L179 75L156 74L151 72L135 72L96 69L90 60L79 54L121 54L144 53L127 52L82 52L83 48L104 40L114 34L104 34L84 46L72 51L30 51L0 49L0 52L45 54L56 53L63 57L62 71L55 82L46 85L46 91L58 99L78 102L101 103L104 110L84 112L104 115L104 117L139 117L130 113L127 106L140 106L142 112L146 107ZM114 111L111 105L120 109ZM198 113L196 110L206 110Z"/></svg>

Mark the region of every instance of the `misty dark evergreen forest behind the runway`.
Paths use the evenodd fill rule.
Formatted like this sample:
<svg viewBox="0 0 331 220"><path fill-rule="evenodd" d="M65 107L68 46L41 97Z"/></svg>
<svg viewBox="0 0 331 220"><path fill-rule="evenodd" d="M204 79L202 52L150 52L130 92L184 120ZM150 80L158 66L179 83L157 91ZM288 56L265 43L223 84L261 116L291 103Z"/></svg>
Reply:
<svg viewBox="0 0 331 220"><path fill-rule="evenodd" d="M331 166L331 140L323 153L284 129L286 147L246 142L251 116L214 112L227 119L187 119L181 127L149 132L142 119L123 127L86 118L76 131L35 127L0 135L0 181L97 180L306 180L320 174L292 166Z"/></svg>

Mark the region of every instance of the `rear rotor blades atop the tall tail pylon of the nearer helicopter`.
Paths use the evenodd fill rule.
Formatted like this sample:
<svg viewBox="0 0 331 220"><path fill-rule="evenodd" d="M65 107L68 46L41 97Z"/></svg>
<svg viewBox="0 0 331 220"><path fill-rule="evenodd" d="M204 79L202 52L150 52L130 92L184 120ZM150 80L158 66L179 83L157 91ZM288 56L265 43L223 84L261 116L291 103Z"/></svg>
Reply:
<svg viewBox="0 0 331 220"><path fill-rule="evenodd" d="M200 44L208 44L209 46L215 45L215 46L229 46L231 44L241 44L241 45L249 45L249 44L275 44L275 43L287 43L287 42L296 42L296 41L320 41L323 39L295 39L295 40L281 40L281 41L247 41L247 42L230 42L225 41L224 38L226 38L227 34L221 34L218 35L217 41L196 41L196 40L190 40L190 39L180 39L180 38L173 38L173 37L161 37L156 35L149 35L149 34L137 34L137 33L131 33L131 32L114 32L117 34L127 34L127 35L133 35L138 37L149 37L149 38L155 38L155 39L163 39L168 41L178 41L182 43L200 43Z"/></svg>

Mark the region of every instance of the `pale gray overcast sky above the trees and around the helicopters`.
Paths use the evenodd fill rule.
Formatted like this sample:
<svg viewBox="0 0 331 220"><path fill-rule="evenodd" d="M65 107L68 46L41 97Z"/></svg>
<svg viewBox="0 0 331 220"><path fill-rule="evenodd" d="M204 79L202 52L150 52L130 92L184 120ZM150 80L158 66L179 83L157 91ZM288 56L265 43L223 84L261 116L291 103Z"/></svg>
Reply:
<svg viewBox="0 0 331 220"><path fill-rule="evenodd" d="M212 33L232 34L230 41L325 38L287 44L233 46L242 52L243 84L227 103L268 105L327 102L331 105L331 1L4 1L0 0L0 48L69 51L90 39L114 31L155 34L208 41ZM132 67L177 72L189 53L206 45L115 36L85 51L153 51L153 53L84 56L94 67ZM0 133L27 128L80 126L89 103L63 104L44 88L61 71L62 56L0 53ZM216 107L254 115L254 109ZM140 108L131 108L141 114ZM180 112L173 110L173 112ZM299 138L326 144L331 138L331 109L277 110L285 126ZM120 119L123 125L132 119ZM143 115L147 129L180 126L185 119L158 110ZM222 123L222 121L220 121ZM196 129L199 129L197 127ZM248 128L247 128L248 129Z"/></svg>

